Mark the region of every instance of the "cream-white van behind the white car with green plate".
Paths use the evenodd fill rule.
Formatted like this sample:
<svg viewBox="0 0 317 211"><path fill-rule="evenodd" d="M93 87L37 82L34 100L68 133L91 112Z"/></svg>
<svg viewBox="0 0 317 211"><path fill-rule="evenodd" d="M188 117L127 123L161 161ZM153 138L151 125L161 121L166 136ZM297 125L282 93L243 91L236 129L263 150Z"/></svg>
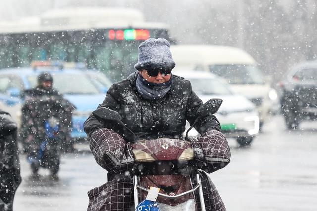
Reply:
<svg viewBox="0 0 317 211"><path fill-rule="evenodd" d="M250 99L259 111L260 127L275 109L276 91L247 52L217 45L172 45L170 49L175 70L211 72L224 78L235 92Z"/></svg>

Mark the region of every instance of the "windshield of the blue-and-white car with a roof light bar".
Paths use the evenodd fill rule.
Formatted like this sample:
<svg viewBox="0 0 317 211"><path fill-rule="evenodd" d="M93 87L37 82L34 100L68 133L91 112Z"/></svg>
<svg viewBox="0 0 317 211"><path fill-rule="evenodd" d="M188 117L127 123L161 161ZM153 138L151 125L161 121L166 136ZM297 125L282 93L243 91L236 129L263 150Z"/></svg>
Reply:
<svg viewBox="0 0 317 211"><path fill-rule="evenodd" d="M32 87L37 85L37 76L28 78ZM61 94L98 94L99 90L83 74L53 74L53 87Z"/></svg>

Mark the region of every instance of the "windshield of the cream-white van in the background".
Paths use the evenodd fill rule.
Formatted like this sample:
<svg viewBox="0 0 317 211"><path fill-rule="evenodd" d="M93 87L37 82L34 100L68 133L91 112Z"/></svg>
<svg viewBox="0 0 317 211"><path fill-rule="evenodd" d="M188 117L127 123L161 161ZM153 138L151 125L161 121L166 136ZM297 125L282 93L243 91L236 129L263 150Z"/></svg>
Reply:
<svg viewBox="0 0 317 211"><path fill-rule="evenodd" d="M229 84L264 84L261 71L254 65L210 65L209 70Z"/></svg>

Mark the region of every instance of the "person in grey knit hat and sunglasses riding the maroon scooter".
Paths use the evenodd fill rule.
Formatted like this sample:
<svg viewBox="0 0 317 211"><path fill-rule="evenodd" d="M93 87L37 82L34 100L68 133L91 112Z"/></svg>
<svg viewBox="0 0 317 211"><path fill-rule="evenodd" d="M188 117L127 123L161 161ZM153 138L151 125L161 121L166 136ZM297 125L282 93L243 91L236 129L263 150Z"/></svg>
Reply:
<svg viewBox="0 0 317 211"><path fill-rule="evenodd" d="M100 121L94 114L84 123L94 158L108 171L108 182L88 192L88 211L134 210L131 178L127 174L135 163L130 142L182 139L186 120L201 134L198 143L192 146L198 168L207 173L217 170L209 168L212 164L205 157L217 157L218 153L228 158L218 169L230 161L228 143L216 117L211 114L196 121L203 102L192 91L188 80L172 74L175 62L169 46L169 42L161 38L141 43L138 63L134 66L137 71L113 84L98 106L118 112L125 127L111 120ZM206 210L224 211L215 186L206 175L204 178Z"/></svg>

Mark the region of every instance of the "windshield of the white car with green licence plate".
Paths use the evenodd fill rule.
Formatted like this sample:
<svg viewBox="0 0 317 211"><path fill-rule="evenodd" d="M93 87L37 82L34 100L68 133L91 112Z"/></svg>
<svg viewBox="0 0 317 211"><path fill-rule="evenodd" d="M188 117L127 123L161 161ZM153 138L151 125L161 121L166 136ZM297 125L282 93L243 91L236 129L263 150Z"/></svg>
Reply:
<svg viewBox="0 0 317 211"><path fill-rule="evenodd" d="M198 95L228 95L232 94L225 84L210 78L187 78L194 92Z"/></svg>

